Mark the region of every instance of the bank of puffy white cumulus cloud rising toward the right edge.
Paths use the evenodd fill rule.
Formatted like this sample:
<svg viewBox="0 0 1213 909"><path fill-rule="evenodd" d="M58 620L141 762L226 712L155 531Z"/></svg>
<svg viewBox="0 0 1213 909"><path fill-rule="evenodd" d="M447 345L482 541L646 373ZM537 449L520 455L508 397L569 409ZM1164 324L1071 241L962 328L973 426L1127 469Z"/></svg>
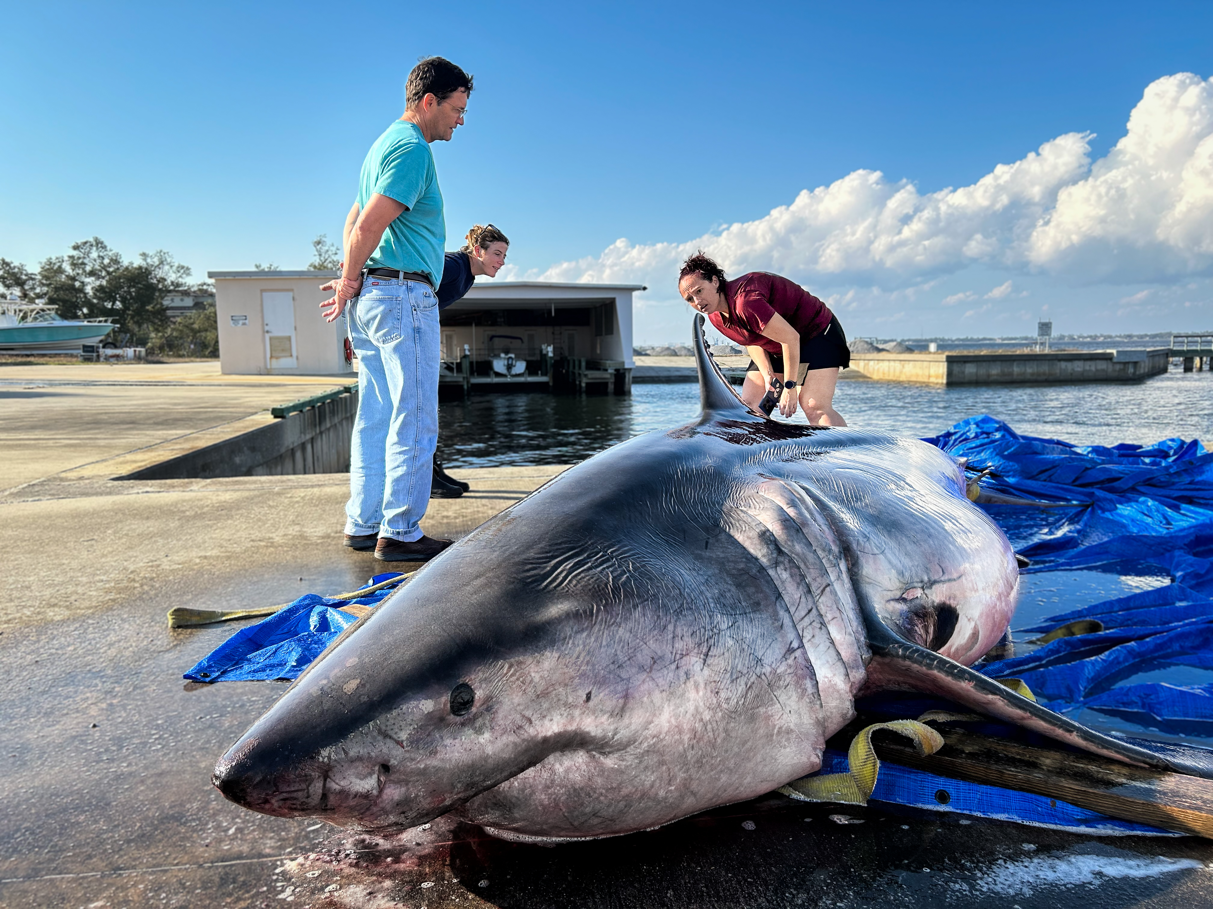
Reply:
<svg viewBox="0 0 1213 909"><path fill-rule="evenodd" d="M825 287L907 287L970 265L1078 284L1213 273L1213 80L1181 73L1150 84L1124 137L1094 164L1090 138L1059 136L936 193L854 171L756 221L684 242L621 239L528 276L647 284L672 299L677 267L696 248L730 274L778 271ZM1007 281L986 298L1010 293ZM944 305L973 298L957 293Z"/></svg>

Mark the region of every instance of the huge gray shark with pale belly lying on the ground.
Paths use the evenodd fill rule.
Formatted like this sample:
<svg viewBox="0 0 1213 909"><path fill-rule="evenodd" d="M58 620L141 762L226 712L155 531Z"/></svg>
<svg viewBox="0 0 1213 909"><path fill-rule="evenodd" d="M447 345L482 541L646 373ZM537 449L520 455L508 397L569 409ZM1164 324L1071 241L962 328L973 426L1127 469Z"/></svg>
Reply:
<svg viewBox="0 0 1213 909"><path fill-rule="evenodd" d="M566 470L422 567L218 761L232 801L391 831L452 813L610 836L820 767L860 692L950 697L1166 766L966 667L1015 555L918 440L750 411L695 324L704 410Z"/></svg>

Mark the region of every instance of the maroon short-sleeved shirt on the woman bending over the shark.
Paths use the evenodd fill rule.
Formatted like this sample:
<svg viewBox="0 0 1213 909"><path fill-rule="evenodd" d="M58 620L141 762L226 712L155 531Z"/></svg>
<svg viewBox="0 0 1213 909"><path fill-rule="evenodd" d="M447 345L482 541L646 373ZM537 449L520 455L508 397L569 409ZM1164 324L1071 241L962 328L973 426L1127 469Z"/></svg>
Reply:
<svg viewBox="0 0 1213 909"><path fill-rule="evenodd" d="M820 335L833 313L796 281L767 271L751 271L724 282L728 313L707 318L724 337L742 347L761 347L771 354L784 353L776 341L762 335L770 318L779 313L801 333L801 341Z"/></svg>

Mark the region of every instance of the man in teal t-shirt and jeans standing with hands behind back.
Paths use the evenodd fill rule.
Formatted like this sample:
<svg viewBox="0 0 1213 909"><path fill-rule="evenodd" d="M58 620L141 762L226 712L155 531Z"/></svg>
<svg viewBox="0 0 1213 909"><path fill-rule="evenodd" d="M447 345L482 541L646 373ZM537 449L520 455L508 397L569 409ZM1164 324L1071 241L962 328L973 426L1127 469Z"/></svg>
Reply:
<svg viewBox="0 0 1213 909"><path fill-rule="evenodd" d="M431 142L463 122L472 76L421 61L405 112L363 161L344 230L341 278L320 304L330 322L349 304L358 416L349 446L347 547L383 561L426 561L450 545L421 532L438 442L438 285L446 225Z"/></svg>

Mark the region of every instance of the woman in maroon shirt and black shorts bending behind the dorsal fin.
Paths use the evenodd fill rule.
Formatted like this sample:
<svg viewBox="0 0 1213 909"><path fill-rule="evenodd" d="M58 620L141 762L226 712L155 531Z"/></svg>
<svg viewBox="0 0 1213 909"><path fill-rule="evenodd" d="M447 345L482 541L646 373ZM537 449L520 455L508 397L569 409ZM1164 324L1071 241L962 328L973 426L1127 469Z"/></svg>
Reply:
<svg viewBox="0 0 1213 909"><path fill-rule="evenodd" d="M850 365L850 349L825 303L795 281L765 271L725 280L702 252L683 263L678 292L750 354L742 401L757 408L779 378L779 412L785 417L796 413L799 402L810 425L847 425L833 408L833 393L838 371Z"/></svg>

